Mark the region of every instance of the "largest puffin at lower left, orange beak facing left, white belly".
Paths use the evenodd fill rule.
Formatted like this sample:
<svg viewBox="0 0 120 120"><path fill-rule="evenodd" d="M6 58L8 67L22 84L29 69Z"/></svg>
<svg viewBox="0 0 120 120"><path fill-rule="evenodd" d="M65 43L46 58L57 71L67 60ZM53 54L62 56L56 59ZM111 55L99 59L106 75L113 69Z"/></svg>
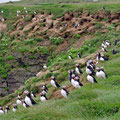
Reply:
<svg viewBox="0 0 120 120"><path fill-rule="evenodd" d="M31 94L30 94L30 92L29 92L28 90L25 90L25 91L23 92L23 94L26 95L26 97L25 97L25 103L26 103L27 105L29 105L29 106L32 107L34 104L36 104L36 102L31 98Z"/></svg>

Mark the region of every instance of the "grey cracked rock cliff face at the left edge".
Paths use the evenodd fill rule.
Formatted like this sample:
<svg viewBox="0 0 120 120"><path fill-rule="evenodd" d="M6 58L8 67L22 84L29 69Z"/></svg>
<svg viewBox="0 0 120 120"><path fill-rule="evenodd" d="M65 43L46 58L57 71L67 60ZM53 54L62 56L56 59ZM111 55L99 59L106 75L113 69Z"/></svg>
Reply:
<svg viewBox="0 0 120 120"><path fill-rule="evenodd" d="M13 93L20 86L24 85L27 79L36 76L43 68L43 64L46 63L48 58L48 55L42 54L36 54L34 59L30 59L30 53L22 55L16 52L13 54L17 59L7 62L12 66L12 70L10 71L8 69L8 76L6 79L0 77L1 96Z"/></svg>

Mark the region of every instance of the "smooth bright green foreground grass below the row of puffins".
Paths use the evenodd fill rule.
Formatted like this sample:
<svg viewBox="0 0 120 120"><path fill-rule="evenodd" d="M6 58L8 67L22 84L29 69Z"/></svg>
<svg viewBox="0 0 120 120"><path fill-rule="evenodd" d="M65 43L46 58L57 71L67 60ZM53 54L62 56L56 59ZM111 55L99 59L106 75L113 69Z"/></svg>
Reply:
<svg viewBox="0 0 120 120"><path fill-rule="evenodd" d="M97 79L98 84L87 83L71 92L68 99L39 102L28 109L19 107L16 113L1 115L0 120L119 120L119 59L120 54L117 54L108 62L100 63L100 66L104 65L108 78ZM36 101L39 101L39 96Z"/></svg>

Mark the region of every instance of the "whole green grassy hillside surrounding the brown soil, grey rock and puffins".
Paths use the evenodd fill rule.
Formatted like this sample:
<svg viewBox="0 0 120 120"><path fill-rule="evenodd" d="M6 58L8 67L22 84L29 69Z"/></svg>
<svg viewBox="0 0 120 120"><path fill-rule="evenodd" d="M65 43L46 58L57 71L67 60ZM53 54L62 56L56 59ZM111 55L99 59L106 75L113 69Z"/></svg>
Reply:
<svg viewBox="0 0 120 120"><path fill-rule="evenodd" d="M65 2L67 0L64 0ZM103 1L103 0L101 0ZM30 0L18 2L18 3L27 3L33 4ZM119 12L120 4L46 4L38 5L38 0L34 1L37 5L26 5L29 11L29 14L33 14L34 10L37 12L52 12L54 14L54 19L61 17L66 11L80 11L81 9L84 12L96 13L101 10L102 6L105 5L107 10L105 12ZM43 1L48 2L48 1ZM73 1L74 2L74 1ZM76 2L79 2L76 0ZM106 1L108 2L108 1ZM119 2L119 0L117 1ZM18 4L16 3L16 4ZM10 4L10 5L9 5ZM0 10L6 11L3 15L4 18L7 18L5 24L8 25L7 34L15 30L13 24L19 20L16 17L16 10L21 10L24 14L23 8L25 5L14 5L14 3L4 4L0 6ZM12 5L13 4L13 5ZM11 14L12 13L12 14ZM105 22L107 19L103 19L102 22ZM30 21L27 21L30 22ZM26 22L26 23L27 23ZM4 98L0 99L0 105L5 106L6 104L11 105L16 101L17 93L22 94L25 89L33 91L36 93L37 98L35 101L37 105L34 107L23 109L21 106L18 106L16 113L10 111L8 114L1 115L0 120L119 120L120 117L120 53L112 55L112 48L116 38L120 39L120 29L119 23L117 24L108 24L106 27L107 32L101 31L104 24L96 21L96 32L74 34L72 38L62 39L42 39L42 35L39 39L35 37L27 38L23 37L9 37L2 33L2 39L0 40L0 63L1 73L3 73L3 78L7 77L7 69L10 68L10 64L6 64L3 61L15 60L11 56L12 51L18 50L23 55L26 53L32 53L30 59L35 59L37 54L50 54L48 58L48 70L43 70L43 76L40 78L33 77L28 79L25 82L25 85L15 91L15 93L10 94ZM29 32L29 31L28 31ZM86 38L87 37L87 38ZM82 38L85 39L81 43ZM97 51L101 50L101 43L105 40L110 40L112 47L108 48L108 52L104 53L105 56L109 57L109 61L100 62L97 66L104 66L105 72L108 75L107 79L97 79L97 84L90 84L86 80L85 73L85 61L86 57L89 56L91 59L95 59L95 54ZM48 48L42 46L43 42L49 42ZM70 41L70 46L66 51L59 53L59 48L62 47L64 42ZM79 45L80 44L80 45ZM61 45L61 46L60 46ZM77 47L76 47L77 46ZM57 52L55 50L58 49ZM116 50L120 51L120 42L118 46L115 47ZM80 59L77 58L77 53L80 52L82 55L83 63ZM59 53L59 54L58 54ZM73 60L68 59L68 55L73 56ZM92 56L93 55L93 56ZM4 57L3 57L4 56ZM14 63L14 62L13 62ZM68 99L59 99L60 89L54 90L50 85L50 77L54 75L60 85L67 85L70 87L68 80L68 70L75 69L75 64L79 63L84 74L81 76L80 81L85 83L85 85L80 89L70 90ZM19 65L17 68L20 67ZM23 66L21 66L23 68ZM27 69L28 66L24 66ZM4 69L3 69L4 68ZM12 71L12 69L10 69ZM47 97L49 100L45 103L40 102L39 92L41 91L40 86L47 82L49 87L49 92ZM8 88L6 88L7 90ZM60 97L61 98L61 97ZM12 108L12 107L11 107Z"/></svg>

